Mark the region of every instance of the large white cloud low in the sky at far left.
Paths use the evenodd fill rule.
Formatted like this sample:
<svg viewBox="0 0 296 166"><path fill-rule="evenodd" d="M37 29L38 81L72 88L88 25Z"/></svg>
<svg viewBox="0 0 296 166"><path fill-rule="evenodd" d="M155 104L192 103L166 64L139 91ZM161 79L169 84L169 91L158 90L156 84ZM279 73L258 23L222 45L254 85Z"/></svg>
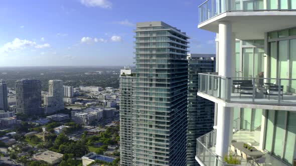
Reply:
<svg viewBox="0 0 296 166"><path fill-rule="evenodd" d="M24 49L28 47L35 48L46 48L50 47L49 43L37 44L35 41L27 40L27 39L19 39L15 38L13 41L8 42L0 47L0 52L11 52L17 49Z"/></svg>

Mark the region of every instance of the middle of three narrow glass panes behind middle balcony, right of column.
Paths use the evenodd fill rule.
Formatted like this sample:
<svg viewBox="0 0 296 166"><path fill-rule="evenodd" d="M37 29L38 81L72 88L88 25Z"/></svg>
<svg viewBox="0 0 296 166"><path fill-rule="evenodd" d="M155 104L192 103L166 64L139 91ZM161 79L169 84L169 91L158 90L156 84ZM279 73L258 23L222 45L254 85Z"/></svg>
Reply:
<svg viewBox="0 0 296 166"><path fill-rule="evenodd" d="M243 76L253 76L253 48L243 48Z"/></svg>

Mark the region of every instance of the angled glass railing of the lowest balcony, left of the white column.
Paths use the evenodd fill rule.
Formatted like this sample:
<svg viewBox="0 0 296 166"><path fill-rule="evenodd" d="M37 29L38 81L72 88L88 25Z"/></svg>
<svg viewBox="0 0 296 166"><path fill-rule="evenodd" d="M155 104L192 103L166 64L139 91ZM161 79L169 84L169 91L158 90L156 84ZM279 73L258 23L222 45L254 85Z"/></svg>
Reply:
<svg viewBox="0 0 296 166"><path fill-rule="evenodd" d="M212 130L197 138L196 143L196 157L201 165L207 166L237 166L236 164L228 164L225 161L220 160L215 155L215 144L216 144L216 130ZM240 165L240 164L239 164Z"/></svg>

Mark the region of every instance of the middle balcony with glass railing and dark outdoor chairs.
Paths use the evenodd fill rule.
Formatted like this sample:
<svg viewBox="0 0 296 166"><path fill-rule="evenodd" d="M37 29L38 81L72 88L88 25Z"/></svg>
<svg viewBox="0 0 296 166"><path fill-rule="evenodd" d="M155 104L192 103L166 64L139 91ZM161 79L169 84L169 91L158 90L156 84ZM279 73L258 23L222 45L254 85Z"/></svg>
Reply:
<svg viewBox="0 0 296 166"><path fill-rule="evenodd" d="M199 73L198 95L229 107L296 109L296 79Z"/></svg>

